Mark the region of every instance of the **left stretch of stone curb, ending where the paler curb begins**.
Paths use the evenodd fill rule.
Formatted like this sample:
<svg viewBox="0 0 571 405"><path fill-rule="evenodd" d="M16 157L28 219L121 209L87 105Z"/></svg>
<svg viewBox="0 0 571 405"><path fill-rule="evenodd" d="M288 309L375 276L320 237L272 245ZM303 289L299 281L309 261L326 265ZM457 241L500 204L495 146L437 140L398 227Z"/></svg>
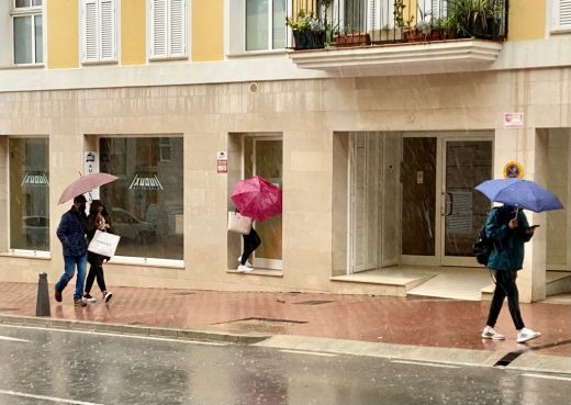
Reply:
<svg viewBox="0 0 571 405"><path fill-rule="evenodd" d="M268 339L269 335L240 335L211 330L176 329L149 326L133 326L86 320L54 319L34 316L0 315L0 325L36 326L53 329L99 331L117 335L138 335L183 340L219 341L237 345L254 345Z"/></svg>

